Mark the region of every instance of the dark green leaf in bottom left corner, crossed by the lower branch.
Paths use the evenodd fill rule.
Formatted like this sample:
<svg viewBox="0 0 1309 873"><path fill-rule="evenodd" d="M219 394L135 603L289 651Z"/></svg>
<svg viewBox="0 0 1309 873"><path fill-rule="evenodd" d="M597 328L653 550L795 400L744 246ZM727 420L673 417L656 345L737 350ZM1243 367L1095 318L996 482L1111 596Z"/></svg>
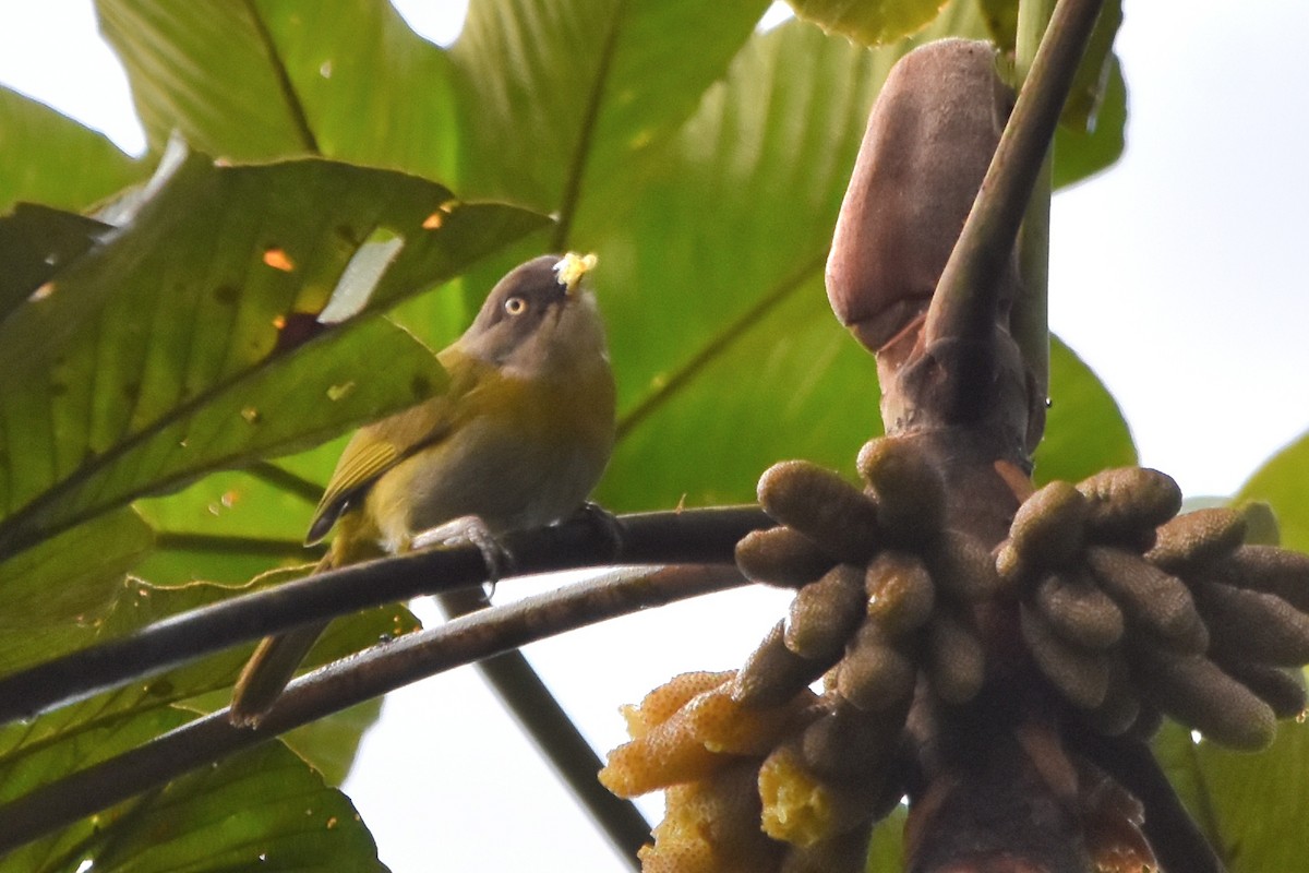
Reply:
<svg viewBox="0 0 1309 873"><path fill-rule="evenodd" d="M157 708L5 755L10 800L75 766L89 766L185 724ZM350 800L281 743L232 755L119 804L5 859L5 870L381 870Z"/></svg>

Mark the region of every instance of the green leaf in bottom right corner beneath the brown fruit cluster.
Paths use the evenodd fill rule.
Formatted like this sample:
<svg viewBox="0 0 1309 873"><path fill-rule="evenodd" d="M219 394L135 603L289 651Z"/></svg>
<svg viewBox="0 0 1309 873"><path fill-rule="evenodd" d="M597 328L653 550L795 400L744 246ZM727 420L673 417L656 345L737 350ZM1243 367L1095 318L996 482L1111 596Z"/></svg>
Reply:
<svg viewBox="0 0 1309 873"><path fill-rule="evenodd" d="M1309 856L1309 725L1283 721L1258 754L1192 742L1165 724L1155 754L1229 873L1299 870Z"/></svg>

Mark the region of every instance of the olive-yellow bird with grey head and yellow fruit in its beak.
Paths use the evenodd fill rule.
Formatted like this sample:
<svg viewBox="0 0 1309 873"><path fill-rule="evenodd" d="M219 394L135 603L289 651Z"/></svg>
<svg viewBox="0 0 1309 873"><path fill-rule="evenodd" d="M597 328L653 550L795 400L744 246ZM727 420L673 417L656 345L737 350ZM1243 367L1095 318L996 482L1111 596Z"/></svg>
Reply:
<svg viewBox="0 0 1309 873"><path fill-rule="evenodd" d="M545 255L491 289L437 359L446 390L361 428L318 503L306 543L335 525L314 572L406 551L412 537L475 516L492 537L579 510L614 445L614 376L594 296L594 255ZM326 623L264 639L237 679L229 719L255 726Z"/></svg>

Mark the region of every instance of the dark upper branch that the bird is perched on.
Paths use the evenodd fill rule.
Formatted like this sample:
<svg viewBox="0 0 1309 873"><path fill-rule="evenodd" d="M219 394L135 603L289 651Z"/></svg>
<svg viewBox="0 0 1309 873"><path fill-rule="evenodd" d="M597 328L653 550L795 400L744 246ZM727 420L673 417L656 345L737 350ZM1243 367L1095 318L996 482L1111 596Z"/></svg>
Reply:
<svg viewBox="0 0 1309 873"><path fill-rule="evenodd" d="M620 516L619 542L588 518L508 534L517 575L614 564L729 563L736 542L772 520L754 507ZM338 615L476 585L473 546L436 548L319 573L175 615L0 679L0 724L82 700L240 643Z"/></svg>

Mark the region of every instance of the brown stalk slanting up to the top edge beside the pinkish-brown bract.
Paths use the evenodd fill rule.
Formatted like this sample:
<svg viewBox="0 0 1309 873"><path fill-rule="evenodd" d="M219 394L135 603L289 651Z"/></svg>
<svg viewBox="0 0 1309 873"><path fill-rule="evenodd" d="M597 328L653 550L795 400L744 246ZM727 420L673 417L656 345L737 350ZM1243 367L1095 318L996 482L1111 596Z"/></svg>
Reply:
<svg viewBox="0 0 1309 873"><path fill-rule="evenodd" d="M927 340L990 343L1000 280L1103 0L1060 0L927 310Z"/></svg>

